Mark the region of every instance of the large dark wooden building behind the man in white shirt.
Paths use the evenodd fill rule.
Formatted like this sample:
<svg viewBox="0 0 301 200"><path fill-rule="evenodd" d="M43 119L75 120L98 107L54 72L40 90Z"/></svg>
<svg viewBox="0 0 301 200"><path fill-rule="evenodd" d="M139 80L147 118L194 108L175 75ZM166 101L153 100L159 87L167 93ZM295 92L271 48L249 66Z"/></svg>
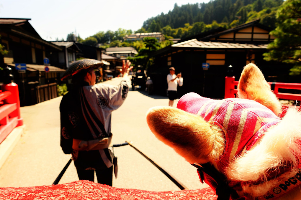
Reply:
<svg viewBox="0 0 301 200"><path fill-rule="evenodd" d="M238 80L243 67L250 62L261 68L268 81L287 82L289 65L263 59L268 43L274 39L270 31L254 20L228 30L219 28L201 33L158 50L147 73L154 82L154 91L166 95L166 76L171 66L176 74L182 72L184 78L183 86L178 87L178 97L196 92L223 98L225 77L235 76ZM203 70L204 63L209 64L207 70ZM232 67L228 68L229 65Z"/></svg>

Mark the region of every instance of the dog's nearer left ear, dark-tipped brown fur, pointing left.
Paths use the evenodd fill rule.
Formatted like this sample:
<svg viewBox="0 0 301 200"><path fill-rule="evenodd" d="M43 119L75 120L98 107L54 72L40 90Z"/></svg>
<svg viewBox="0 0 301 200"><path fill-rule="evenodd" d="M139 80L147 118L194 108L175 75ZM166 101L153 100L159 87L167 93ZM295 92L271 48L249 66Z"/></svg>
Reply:
<svg viewBox="0 0 301 200"><path fill-rule="evenodd" d="M167 106L151 108L147 124L154 135L189 163L214 162L224 150L223 131L200 116Z"/></svg>

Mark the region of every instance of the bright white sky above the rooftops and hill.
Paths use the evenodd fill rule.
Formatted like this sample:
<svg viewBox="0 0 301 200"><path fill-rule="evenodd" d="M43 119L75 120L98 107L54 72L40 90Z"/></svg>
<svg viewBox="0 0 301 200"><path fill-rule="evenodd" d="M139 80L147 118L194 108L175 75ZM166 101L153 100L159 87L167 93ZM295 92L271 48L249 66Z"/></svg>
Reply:
<svg viewBox="0 0 301 200"><path fill-rule="evenodd" d="M178 6L209 0L0 0L0 17L29 18L47 41L66 40L75 32L83 39L99 31L140 29L148 18Z"/></svg>

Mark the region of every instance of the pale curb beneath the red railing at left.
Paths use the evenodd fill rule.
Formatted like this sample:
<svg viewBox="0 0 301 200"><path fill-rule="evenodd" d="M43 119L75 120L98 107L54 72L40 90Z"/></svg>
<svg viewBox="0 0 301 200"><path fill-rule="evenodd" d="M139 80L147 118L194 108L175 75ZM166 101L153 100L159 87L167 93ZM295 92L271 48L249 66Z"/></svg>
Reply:
<svg viewBox="0 0 301 200"><path fill-rule="evenodd" d="M21 135L24 133L24 131L25 125L14 128L14 130L12 130L12 132L0 144L0 168L2 168L2 165L11 154L11 151L20 140Z"/></svg>

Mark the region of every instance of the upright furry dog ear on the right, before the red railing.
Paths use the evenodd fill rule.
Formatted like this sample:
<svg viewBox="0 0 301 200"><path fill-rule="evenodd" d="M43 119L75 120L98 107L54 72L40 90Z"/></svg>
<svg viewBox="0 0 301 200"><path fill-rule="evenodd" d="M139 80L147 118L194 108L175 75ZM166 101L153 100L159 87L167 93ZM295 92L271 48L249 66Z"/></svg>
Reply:
<svg viewBox="0 0 301 200"><path fill-rule="evenodd" d="M272 110L276 115L281 113L281 103L256 65L250 63L244 67L237 89L239 98L254 100Z"/></svg>

